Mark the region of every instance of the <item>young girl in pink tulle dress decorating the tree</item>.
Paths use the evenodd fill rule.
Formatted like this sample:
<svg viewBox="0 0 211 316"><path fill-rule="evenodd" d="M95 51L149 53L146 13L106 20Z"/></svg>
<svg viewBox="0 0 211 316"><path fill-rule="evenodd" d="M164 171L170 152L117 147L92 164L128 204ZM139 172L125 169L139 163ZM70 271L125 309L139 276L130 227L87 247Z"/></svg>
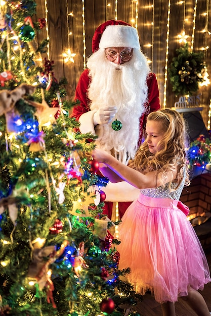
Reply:
<svg viewBox="0 0 211 316"><path fill-rule="evenodd" d="M150 290L163 316L175 316L182 297L200 316L210 316L197 291L211 281L200 242L179 201L189 185L187 134L182 116L170 109L150 113L146 138L129 166L95 149L102 173L111 182L127 181L140 196L126 210L119 227L119 268L130 267L130 282L144 295Z"/></svg>

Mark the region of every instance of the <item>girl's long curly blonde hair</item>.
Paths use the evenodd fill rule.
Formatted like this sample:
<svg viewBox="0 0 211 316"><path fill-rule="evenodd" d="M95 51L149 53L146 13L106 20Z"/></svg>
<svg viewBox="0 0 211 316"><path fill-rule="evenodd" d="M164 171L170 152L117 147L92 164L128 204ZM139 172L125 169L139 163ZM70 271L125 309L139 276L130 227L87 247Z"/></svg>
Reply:
<svg viewBox="0 0 211 316"><path fill-rule="evenodd" d="M178 185L175 189L183 180L182 170L185 168L185 185L188 186L190 184L187 164L189 137L186 121L177 111L171 109L150 113L147 117L148 121L158 122L164 131L162 139L157 144L161 149L152 154L145 140L137 150L134 160L129 162L129 166L143 174L149 171L157 171L157 174L161 172L163 179L166 173L173 173L176 168Z"/></svg>

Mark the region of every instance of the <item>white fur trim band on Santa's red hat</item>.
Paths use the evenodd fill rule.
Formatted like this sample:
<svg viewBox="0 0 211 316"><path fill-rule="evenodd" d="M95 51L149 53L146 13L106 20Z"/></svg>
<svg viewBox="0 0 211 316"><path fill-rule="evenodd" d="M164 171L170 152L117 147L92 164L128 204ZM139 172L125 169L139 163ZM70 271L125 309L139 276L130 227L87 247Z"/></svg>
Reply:
<svg viewBox="0 0 211 316"><path fill-rule="evenodd" d="M140 49L137 29L128 25L108 25L101 36L99 48L108 47Z"/></svg>

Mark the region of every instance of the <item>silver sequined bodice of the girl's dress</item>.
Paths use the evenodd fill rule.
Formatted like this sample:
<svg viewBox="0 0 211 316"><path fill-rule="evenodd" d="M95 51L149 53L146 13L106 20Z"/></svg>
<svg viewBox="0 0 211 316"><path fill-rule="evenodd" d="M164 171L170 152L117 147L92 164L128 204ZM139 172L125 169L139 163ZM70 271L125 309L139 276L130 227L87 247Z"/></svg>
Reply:
<svg viewBox="0 0 211 316"><path fill-rule="evenodd" d="M185 172L184 172L185 174ZM150 189L141 189L140 192L146 196L150 197L157 197L157 198L171 198L173 200L179 200L183 187L185 185L185 176L183 177L183 180L179 187L171 191L168 189L168 183L164 186L159 186L157 188L150 188ZM177 187L177 183L171 183L171 188L174 189Z"/></svg>

